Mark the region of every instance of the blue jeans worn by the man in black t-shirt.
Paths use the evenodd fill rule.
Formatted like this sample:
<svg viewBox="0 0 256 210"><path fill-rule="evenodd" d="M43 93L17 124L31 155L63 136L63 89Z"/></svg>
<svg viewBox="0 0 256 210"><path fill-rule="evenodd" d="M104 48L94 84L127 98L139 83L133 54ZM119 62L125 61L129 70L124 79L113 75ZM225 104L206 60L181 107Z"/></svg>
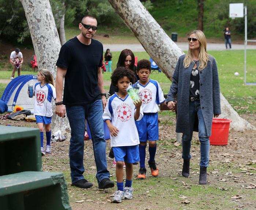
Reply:
<svg viewBox="0 0 256 210"><path fill-rule="evenodd" d="M75 183L84 179L84 137L85 119L88 121L92 135L94 160L96 163L98 183L109 178L106 159L106 140L103 126L103 106L101 100L96 100L84 106L66 106L67 117L71 128L69 159L71 181Z"/></svg>

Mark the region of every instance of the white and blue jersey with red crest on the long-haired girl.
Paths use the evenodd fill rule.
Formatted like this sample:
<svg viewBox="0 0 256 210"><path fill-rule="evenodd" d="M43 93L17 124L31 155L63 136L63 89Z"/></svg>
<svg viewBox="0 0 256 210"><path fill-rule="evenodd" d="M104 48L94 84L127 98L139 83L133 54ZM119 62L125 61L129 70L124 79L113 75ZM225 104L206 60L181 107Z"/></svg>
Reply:
<svg viewBox="0 0 256 210"><path fill-rule="evenodd" d="M34 104L34 114L51 117L52 113L52 98L56 99L56 90L52 84L45 84L41 87L40 82L35 84L35 104Z"/></svg>

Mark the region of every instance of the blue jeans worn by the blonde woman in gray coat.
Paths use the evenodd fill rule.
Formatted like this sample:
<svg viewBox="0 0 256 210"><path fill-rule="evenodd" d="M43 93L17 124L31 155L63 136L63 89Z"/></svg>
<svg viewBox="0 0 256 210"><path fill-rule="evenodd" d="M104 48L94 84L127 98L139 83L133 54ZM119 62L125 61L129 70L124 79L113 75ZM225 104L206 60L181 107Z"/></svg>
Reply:
<svg viewBox="0 0 256 210"><path fill-rule="evenodd" d="M204 117L200 106L200 101L189 101L189 127L190 133L189 135L182 135L182 158L190 159L190 148L191 148L191 140L193 136L193 128L194 122L198 117L199 125L199 140L200 140L200 166L208 167L209 163L209 151L210 151L210 139L209 136L206 135L206 127L204 123Z"/></svg>

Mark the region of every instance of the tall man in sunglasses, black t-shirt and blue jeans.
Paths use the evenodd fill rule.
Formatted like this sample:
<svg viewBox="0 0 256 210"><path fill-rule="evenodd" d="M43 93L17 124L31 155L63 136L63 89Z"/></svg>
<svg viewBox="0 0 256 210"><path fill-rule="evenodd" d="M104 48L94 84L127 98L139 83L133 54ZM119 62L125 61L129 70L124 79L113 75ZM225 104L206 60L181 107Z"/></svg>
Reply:
<svg viewBox="0 0 256 210"><path fill-rule="evenodd" d="M103 109L107 104L101 71L103 45L92 39L97 30L97 20L93 16L85 16L79 23L79 30L81 33L68 40L60 49L56 63L55 112L59 117L65 117L67 112L71 128L69 158L72 185L81 188L93 186L83 176L86 119L92 134L99 188L110 188L114 187L114 182L110 180L110 173L107 170L102 119Z"/></svg>

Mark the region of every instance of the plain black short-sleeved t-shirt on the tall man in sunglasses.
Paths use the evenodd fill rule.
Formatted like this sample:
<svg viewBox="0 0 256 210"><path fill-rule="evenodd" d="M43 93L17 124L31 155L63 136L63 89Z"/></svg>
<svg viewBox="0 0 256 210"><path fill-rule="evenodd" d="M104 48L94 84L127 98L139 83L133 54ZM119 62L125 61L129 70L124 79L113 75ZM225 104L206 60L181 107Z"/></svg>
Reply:
<svg viewBox="0 0 256 210"><path fill-rule="evenodd" d="M98 67L102 61L103 45L97 40L85 45L74 37L61 47L56 66L67 69L63 104L85 105L101 99Z"/></svg>

